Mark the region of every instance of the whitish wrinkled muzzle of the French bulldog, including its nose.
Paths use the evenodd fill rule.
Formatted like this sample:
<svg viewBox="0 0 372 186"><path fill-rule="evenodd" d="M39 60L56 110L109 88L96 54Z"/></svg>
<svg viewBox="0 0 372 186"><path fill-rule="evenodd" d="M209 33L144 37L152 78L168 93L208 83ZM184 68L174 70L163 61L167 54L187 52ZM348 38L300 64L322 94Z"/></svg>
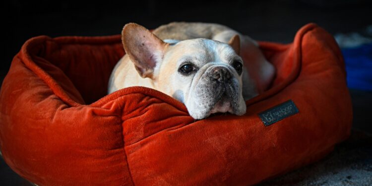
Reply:
<svg viewBox="0 0 372 186"><path fill-rule="evenodd" d="M234 69L228 66L209 66L192 86L186 101L189 114L195 119L203 119L213 113L232 113L243 115L245 102L242 102L242 87Z"/></svg>

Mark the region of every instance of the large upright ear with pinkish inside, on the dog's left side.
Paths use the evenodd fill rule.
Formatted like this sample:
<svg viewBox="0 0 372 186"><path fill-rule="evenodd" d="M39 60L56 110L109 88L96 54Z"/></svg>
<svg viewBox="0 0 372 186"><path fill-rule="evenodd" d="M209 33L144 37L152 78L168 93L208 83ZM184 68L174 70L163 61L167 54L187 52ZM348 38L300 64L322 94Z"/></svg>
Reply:
<svg viewBox="0 0 372 186"><path fill-rule="evenodd" d="M124 26L122 41L126 54L141 77L153 78L154 68L162 61L167 43L135 23Z"/></svg>

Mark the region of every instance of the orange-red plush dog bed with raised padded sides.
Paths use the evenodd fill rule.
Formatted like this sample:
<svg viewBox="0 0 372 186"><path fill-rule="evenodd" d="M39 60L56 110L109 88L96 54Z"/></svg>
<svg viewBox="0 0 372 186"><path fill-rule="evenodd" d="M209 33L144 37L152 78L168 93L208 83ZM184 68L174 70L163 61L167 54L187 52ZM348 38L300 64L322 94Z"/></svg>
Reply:
<svg viewBox="0 0 372 186"><path fill-rule="evenodd" d="M244 116L195 121L153 89L106 95L120 36L32 38L1 86L2 156L41 186L251 185L319 160L352 123L337 44L315 24L293 44L259 44L271 88Z"/></svg>

